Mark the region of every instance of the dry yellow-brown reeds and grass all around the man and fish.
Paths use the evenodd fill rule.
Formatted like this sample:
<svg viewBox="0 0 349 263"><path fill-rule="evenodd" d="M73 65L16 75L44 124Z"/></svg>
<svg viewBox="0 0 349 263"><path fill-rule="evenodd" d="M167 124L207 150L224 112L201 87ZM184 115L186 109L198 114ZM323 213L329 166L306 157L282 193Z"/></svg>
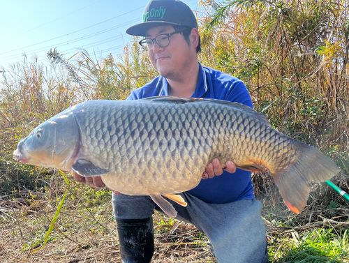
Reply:
<svg viewBox="0 0 349 263"><path fill-rule="evenodd" d="M267 114L275 128L317 146L336 161L343 173L332 181L349 192L347 1L202 3L200 62L239 77L255 110ZM212 21L214 27L205 30ZM22 63L0 69L1 262L120 262L110 193L74 181L67 186L52 171L12 163L12 153L32 128L61 110L82 100L124 99L156 71L136 41L119 56L101 61L84 51L66 59L51 50L49 57L47 68L24 57ZM348 244L343 235L348 230L348 204L328 186L313 184L308 206L294 215L271 176L258 173L252 179L255 197L264 207L272 262L284 262L289 251L297 254L307 233L319 229L334 233L323 234L327 247L332 248L334 239ZM31 253L43 246L67 188L47 245ZM154 262L215 262L206 237L192 225L176 222L156 213ZM348 262L343 251L341 262Z"/></svg>

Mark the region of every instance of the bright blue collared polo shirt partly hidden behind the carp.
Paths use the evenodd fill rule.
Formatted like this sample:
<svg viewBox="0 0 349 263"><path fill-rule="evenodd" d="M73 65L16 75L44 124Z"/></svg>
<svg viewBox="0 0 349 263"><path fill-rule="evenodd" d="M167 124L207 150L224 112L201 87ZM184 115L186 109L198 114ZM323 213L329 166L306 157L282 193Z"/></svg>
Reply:
<svg viewBox="0 0 349 263"><path fill-rule="evenodd" d="M200 64L200 63L199 63ZM158 76L128 96L128 100L138 100L154 96L168 96L168 82ZM253 108L251 97L241 80L221 71L201 66L198 85L192 98L216 98L242 103ZM243 199L254 199L251 172L237 169L234 174L224 171L221 176L201 180L199 185L188 191L201 200L223 204Z"/></svg>

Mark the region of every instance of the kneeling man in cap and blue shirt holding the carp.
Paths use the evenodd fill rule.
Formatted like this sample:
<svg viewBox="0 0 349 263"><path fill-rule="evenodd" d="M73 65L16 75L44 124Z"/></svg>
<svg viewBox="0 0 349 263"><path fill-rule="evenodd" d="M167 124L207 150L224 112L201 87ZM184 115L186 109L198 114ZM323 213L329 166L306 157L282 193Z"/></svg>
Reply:
<svg viewBox="0 0 349 263"><path fill-rule="evenodd" d="M129 100L151 96L216 98L253 107L240 80L198 63L198 24L185 3L151 0L143 22L126 33L144 37L140 45L160 74L133 91ZM267 262L262 204L254 199L251 172L236 169L231 161L224 167L226 171L217 159L212 160L202 175L205 180L181 193L188 206L170 201L178 212L177 219L193 223L207 235L218 262ZM85 179L75 174L75 179L92 187L104 186L100 177ZM161 209L148 196L114 193L112 202L121 259L125 263L150 262L154 253L152 214Z"/></svg>

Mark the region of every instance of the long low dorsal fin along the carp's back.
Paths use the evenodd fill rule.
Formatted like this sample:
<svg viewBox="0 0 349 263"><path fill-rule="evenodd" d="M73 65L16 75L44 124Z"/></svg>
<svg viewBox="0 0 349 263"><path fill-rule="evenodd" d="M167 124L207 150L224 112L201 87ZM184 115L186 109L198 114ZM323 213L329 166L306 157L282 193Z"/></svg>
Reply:
<svg viewBox="0 0 349 263"><path fill-rule="evenodd" d="M142 98L141 100L149 100L154 102L165 102L165 103L217 103L221 105L228 105L230 107L235 107L237 110L241 110L243 112L246 112L247 114L252 114L255 119L258 119L259 121L262 121L263 123L270 126L269 120L265 114L262 114L260 112L256 112L255 110L251 109L251 107L248 107L242 103L232 103L228 100L217 100L215 98L178 98L175 96L156 96L156 97L149 97L149 98Z"/></svg>

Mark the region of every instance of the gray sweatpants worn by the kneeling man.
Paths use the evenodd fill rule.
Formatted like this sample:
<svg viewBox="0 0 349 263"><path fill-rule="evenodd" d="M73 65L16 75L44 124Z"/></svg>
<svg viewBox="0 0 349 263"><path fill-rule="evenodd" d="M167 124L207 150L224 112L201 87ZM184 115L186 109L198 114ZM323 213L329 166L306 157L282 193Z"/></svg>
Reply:
<svg viewBox="0 0 349 263"><path fill-rule="evenodd" d="M265 225L258 200L239 200L228 204L209 204L188 193L180 194L188 203L183 207L171 200L177 219L192 223L205 233L219 263L267 262ZM116 219L142 219L161 209L149 196L114 195Z"/></svg>

